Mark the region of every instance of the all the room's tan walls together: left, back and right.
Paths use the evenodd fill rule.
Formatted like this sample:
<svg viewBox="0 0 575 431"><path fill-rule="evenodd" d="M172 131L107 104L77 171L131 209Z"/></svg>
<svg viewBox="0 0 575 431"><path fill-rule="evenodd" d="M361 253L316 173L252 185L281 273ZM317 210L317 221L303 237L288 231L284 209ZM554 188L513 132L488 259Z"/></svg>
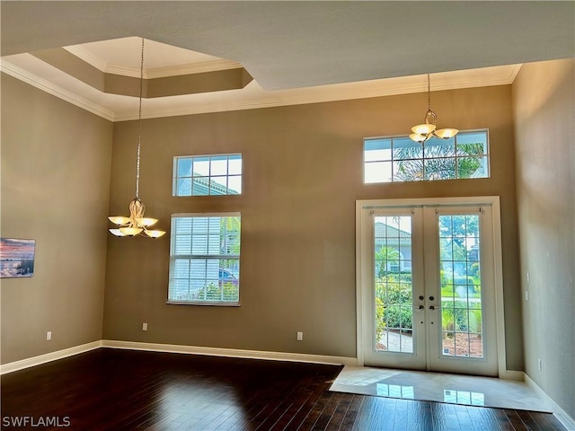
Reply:
<svg viewBox="0 0 575 431"><path fill-rule="evenodd" d="M34 277L2 280L2 363L102 337L355 356L356 199L500 195L508 369L523 332L526 373L575 417L574 78L562 60L524 65L512 95L433 93L439 126L490 129L484 180L362 183L362 138L406 133L425 94L146 120L148 216L169 229L172 213L242 211L242 306L218 308L165 304L168 235L105 233L134 196L136 123L116 123L112 147L110 122L2 75L1 233L37 242ZM242 196L172 197L174 155L223 152L243 153Z"/></svg>

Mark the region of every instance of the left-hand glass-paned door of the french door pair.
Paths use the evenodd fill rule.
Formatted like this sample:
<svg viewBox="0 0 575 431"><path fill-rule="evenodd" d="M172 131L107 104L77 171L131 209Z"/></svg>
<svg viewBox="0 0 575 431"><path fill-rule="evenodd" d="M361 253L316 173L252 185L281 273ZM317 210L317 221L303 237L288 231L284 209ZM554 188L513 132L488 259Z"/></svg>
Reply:
<svg viewBox="0 0 575 431"><path fill-rule="evenodd" d="M366 223L365 363L424 369L421 209L373 211Z"/></svg>

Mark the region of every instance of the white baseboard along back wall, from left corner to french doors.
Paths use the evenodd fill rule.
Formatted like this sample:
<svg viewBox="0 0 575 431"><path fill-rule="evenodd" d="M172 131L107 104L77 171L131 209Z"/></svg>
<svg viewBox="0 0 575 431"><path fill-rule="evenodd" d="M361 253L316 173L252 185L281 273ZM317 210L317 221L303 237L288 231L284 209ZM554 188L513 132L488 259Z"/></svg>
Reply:
<svg viewBox="0 0 575 431"><path fill-rule="evenodd" d="M259 350L240 350L235 348L181 346L175 344L140 343L102 339L102 347L128 348L153 352L185 353L189 355L243 357L248 359L267 359L270 361L307 362L312 364L358 365L355 357L308 355L305 353L267 352Z"/></svg>

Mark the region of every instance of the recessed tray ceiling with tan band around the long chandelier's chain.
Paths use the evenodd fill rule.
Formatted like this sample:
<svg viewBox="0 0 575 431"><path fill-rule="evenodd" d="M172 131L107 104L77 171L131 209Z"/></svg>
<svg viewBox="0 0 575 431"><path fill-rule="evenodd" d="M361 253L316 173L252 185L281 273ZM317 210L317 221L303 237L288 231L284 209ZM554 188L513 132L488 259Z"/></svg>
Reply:
<svg viewBox="0 0 575 431"><path fill-rule="evenodd" d="M132 43L134 40L136 44ZM86 44L88 48L44 49L31 55L99 92L137 97L139 64L133 64L131 54L132 51L139 52L139 40L108 40ZM155 67L151 74L149 69L145 68L144 98L240 90L252 82L252 76L239 63L157 42L148 45L150 47L147 54L152 58L145 67L149 64ZM102 47L108 50L102 51ZM90 61L77 57L75 53L83 53L84 58L89 58ZM101 57L98 57L99 55ZM119 63L113 64L111 61ZM160 66L163 64L168 66ZM227 67L224 67L225 65ZM173 75L170 74L171 71Z"/></svg>

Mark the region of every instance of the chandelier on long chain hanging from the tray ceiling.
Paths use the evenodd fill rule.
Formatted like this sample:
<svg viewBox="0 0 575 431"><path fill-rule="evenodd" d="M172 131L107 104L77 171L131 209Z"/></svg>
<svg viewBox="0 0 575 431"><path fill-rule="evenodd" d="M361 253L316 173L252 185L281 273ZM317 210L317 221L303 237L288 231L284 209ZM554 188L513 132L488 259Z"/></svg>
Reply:
<svg viewBox="0 0 575 431"><path fill-rule="evenodd" d="M144 82L144 39L142 38L142 56L140 60L140 97L139 109L137 113L137 156L136 156L136 198L129 203L129 217L111 216L108 219L118 227L109 229L110 233L116 236L136 236L143 235L149 238L159 238L165 231L150 230L148 227L155 224L156 218L144 216L146 207L140 200L140 147L142 136L142 86Z"/></svg>

